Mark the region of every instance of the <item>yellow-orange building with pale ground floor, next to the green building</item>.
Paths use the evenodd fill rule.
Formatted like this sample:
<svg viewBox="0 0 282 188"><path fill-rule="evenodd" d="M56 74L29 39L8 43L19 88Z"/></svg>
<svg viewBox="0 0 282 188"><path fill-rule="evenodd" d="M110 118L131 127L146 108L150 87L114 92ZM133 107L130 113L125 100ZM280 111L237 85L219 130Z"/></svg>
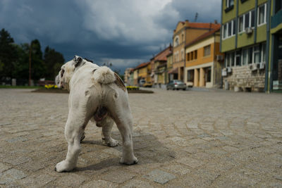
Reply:
<svg viewBox="0 0 282 188"><path fill-rule="evenodd" d="M184 81L194 87L221 87L223 54L219 51L220 25L185 46Z"/></svg>

